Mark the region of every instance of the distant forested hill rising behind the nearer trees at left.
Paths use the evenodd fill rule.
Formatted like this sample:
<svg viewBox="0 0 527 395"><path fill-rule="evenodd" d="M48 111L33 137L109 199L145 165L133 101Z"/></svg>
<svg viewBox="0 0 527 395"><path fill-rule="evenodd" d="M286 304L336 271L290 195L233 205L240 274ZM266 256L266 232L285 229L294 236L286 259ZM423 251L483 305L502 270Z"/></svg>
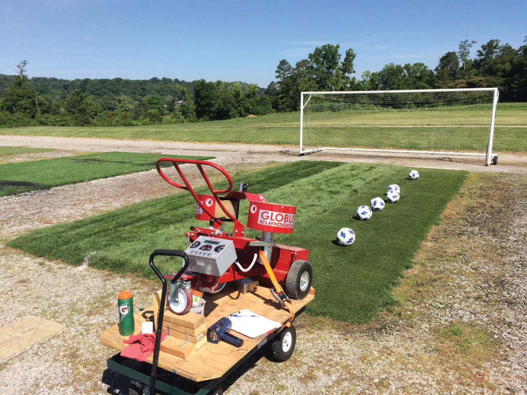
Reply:
<svg viewBox="0 0 527 395"><path fill-rule="evenodd" d="M0 74L0 98L5 88L13 83L15 75ZM52 77L32 77L27 81L27 85L43 96L47 102L64 103L66 97L76 89L79 89L93 100L99 102L104 110L114 110L115 97L125 96L132 102L140 102L144 96L159 94L161 97L174 96L178 100L181 92L175 89L177 85L186 88L192 96L194 95L194 82L181 81L175 78L153 77L150 80L124 80L123 78L91 79L83 80L62 80ZM245 91L248 84L241 83L242 91ZM264 88L258 89L258 94L262 94Z"/></svg>

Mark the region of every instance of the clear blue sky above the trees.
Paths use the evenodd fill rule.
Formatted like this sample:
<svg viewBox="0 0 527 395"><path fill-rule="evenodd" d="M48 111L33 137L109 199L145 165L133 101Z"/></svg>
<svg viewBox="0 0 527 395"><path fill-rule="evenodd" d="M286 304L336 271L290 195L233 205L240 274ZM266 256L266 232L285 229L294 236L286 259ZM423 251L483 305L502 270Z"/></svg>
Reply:
<svg viewBox="0 0 527 395"><path fill-rule="evenodd" d="M471 57L496 38L527 35L521 1L41 0L0 4L0 74L27 60L30 77L179 78L267 87L278 62L317 46L353 48L357 78L388 63L430 68L464 40Z"/></svg>

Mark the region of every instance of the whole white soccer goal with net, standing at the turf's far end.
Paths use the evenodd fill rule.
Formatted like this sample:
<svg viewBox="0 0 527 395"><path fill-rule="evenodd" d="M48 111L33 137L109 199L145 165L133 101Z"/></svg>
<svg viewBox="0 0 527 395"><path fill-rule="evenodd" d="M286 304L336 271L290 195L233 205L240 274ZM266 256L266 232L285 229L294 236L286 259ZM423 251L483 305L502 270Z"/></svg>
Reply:
<svg viewBox="0 0 527 395"><path fill-rule="evenodd" d="M497 88L302 92L300 154L347 150L419 156L492 153Z"/></svg>

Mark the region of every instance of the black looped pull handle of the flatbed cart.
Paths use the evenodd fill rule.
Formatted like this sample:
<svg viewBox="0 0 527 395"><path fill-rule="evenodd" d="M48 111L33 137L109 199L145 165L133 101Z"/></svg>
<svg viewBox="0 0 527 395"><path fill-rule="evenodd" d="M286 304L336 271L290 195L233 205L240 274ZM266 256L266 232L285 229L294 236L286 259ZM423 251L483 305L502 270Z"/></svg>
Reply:
<svg viewBox="0 0 527 395"><path fill-rule="evenodd" d="M158 362L159 362L159 349L161 348L161 333L163 331L163 315L164 315L164 306L165 306L165 300L167 299L167 279L164 278L164 276L161 274L157 266L154 265L154 258L158 255L164 255L164 256L180 256L183 258L183 266L179 270L178 274L174 276L172 280L170 280L172 283L175 283L179 280L181 275L187 270L189 267L189 259L187 257L187 253L180 250L155 250L150 255L150 267L154 271L154 273L161 279L163 282L163 289L161 291L161 300L159 303L159 316L158 316L158 322L156 325L156 331L155 331L155 343L154 343L154 355L152 360L152 374L150 376L150 393L155 393L155 381L157 380L158 376Z"/></svg>

